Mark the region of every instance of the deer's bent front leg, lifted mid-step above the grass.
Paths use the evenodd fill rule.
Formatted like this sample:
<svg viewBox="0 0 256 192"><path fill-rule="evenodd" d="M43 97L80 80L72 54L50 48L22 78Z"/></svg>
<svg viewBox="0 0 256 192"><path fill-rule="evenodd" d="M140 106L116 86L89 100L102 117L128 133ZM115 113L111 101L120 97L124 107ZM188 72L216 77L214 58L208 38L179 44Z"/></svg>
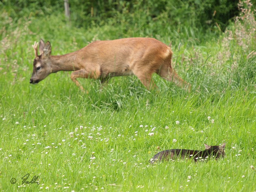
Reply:
<svg viewBox="0 0 256 192"><path fill-rule="evenodd" d="M80 88L81 91L84 92L84 88L80 83L76 80L76 78L94 78L97 79L100 76L100 71L95 70L95 72L88 72L85 69L77 70L71 73L70 78L76 84L77 87Z"/></svg>

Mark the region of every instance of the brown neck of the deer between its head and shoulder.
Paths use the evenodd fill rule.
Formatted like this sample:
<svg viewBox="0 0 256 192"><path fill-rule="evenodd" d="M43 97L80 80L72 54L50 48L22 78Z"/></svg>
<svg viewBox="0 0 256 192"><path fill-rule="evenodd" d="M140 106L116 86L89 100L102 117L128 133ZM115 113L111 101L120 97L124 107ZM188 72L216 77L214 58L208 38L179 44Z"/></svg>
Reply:
<svg viewBox="0 0 256 192"><path fill-rule="evenodd" d="M74 53L50 56L50 61L52 73L58 71L76 71L79 69Z"/></svg>

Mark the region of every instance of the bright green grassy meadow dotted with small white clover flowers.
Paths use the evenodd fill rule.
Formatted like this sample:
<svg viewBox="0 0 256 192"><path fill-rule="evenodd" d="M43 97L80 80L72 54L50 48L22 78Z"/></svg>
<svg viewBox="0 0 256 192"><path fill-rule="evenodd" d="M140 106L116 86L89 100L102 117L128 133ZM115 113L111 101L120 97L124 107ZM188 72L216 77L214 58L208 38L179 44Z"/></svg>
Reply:
<svg viewBox="0 0 256 192"><path fill-rule="evenodd" d="M249 5L249 8L248 8ZM0 9L1 191L256 191L256 21L241 15L223 32L161 21L78 28L62 14L13 19ZM253 6L252 6L253 8ZM29 84L32 44L52 55L92 41L154 37L172 42L172 66L191 92L154 75L148 91L135 76L71 81L71 72ZM171 148L226 143L224 158L149 164ZM40 184L22 184L38 176ZM11 182L16 182L12 184Z"/></svg>

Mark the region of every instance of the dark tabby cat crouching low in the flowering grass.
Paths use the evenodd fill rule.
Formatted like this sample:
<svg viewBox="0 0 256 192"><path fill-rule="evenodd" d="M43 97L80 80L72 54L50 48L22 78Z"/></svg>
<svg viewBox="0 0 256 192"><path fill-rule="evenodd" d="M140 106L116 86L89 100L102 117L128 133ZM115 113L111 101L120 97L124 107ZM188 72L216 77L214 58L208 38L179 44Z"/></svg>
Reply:
<svg viewBox="0 0 256 192"><path fill-rule="evenodd" d="M208 157L215 157L218 159L220 156L224 157L225 152L225 143L221 146L209 146L204 144L205 150L188 150L188 149L170 149L164 150L157 153L152 159L149 160L149 163L153 164L156 161L168 161L168 160L178 160L185 158L193 158L195 162L204 161Z"/></svg>

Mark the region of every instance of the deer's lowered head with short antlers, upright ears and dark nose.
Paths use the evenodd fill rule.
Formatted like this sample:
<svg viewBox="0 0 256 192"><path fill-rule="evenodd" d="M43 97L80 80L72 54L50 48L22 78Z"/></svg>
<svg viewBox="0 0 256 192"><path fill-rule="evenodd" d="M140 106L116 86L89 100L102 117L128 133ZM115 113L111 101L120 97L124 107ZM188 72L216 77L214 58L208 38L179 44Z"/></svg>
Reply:
<svg viewBox="0 0 256 192"><path fill-rule="evenodd" d="M52 47L50 42L47 41L46 44L44 44L44 41L42 39L40 40L39 55L37 54L37 45L38 43L36 42L32 45L35 53L35 59L33 62L33 73L29 81L31 84L37 84L39 81L42 81L52 71L50 60Z"/></svg>

